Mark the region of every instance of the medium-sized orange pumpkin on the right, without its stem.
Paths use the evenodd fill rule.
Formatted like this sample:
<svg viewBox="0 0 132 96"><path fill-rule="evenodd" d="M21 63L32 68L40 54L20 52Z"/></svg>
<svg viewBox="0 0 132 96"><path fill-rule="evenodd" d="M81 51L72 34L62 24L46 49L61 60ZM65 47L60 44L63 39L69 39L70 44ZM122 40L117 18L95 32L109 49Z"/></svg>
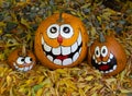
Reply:
<svg viewBox="0 0 132 96"><path fill-rule="evenodd" d="M110 76L125 68L127 55L113 36L106 36L105 43L98 39L89 47L88 62L105 75Z"/></svg>

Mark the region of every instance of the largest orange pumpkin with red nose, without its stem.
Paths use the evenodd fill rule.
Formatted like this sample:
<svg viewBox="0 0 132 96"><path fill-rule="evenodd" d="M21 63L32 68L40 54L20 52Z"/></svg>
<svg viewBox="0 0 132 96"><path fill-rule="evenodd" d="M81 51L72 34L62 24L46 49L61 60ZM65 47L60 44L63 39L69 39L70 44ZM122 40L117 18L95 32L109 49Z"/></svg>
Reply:
<svg viewBox="0 0 132 96"><path fill-rule="evenodd" d="M53 14L40 24L35 34L35 55L50 69L77 65L87 53L89 38L82 22L67 13L62 19L58 22L59 13Z"/></svg>

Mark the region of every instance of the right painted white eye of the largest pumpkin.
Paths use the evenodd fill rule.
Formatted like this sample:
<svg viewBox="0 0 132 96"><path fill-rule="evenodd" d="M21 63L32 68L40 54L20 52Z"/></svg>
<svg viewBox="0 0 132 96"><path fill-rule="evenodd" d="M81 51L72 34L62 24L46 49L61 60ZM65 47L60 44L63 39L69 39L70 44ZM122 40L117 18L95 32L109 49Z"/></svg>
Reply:
<svg viewBox="0 0 132 96"><path fill-rule="evenodd" d="M73 27L69 24L62 25L61 35L65 38L70 38L74 35Z"/></svg>

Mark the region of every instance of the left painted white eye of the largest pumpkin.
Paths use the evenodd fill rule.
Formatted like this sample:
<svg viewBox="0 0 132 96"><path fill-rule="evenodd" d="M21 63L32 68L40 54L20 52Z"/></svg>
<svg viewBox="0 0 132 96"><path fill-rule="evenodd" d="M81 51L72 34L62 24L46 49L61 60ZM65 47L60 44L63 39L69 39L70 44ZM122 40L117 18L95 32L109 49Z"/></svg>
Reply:
<svg viewBox="0 0 132 96"><path fill-rule="evenodd" d="M47 36L50 38L56 38L58 36L59 26L57 24L53 24L47 28Z"/></svg>

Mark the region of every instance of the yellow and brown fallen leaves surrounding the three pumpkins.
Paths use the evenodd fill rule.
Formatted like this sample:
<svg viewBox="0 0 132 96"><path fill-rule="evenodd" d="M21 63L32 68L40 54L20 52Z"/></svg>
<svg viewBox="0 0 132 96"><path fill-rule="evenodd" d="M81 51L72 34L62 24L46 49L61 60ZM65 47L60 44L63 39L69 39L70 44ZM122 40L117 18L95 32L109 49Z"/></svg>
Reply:
<svg viewBox="0 0 132 96"><path fill-rule="evenodd" d="M68 2L68 5L65 5ZM114 7L111 2L119 5ZM108 4L109 3L109 4ZM22 47L33 51L38 24L58 12L78 16L86 25L91 43L96 27L114 34L124 47L128 62L116 76L106 77L86 61L74 68L50 70L38 61L33 70L18 72L7 63L8 55ZM97 16L100 26L94 26ZM132 95L132 1L127 0L1 0L0 1L0 95L1 96L131 96ZM95 20L96 21L96 20ZM96 24L98 25L98 24ZM90 43L88 44L90 45ZM33 51L34 52L34 51Z"/></svg>

